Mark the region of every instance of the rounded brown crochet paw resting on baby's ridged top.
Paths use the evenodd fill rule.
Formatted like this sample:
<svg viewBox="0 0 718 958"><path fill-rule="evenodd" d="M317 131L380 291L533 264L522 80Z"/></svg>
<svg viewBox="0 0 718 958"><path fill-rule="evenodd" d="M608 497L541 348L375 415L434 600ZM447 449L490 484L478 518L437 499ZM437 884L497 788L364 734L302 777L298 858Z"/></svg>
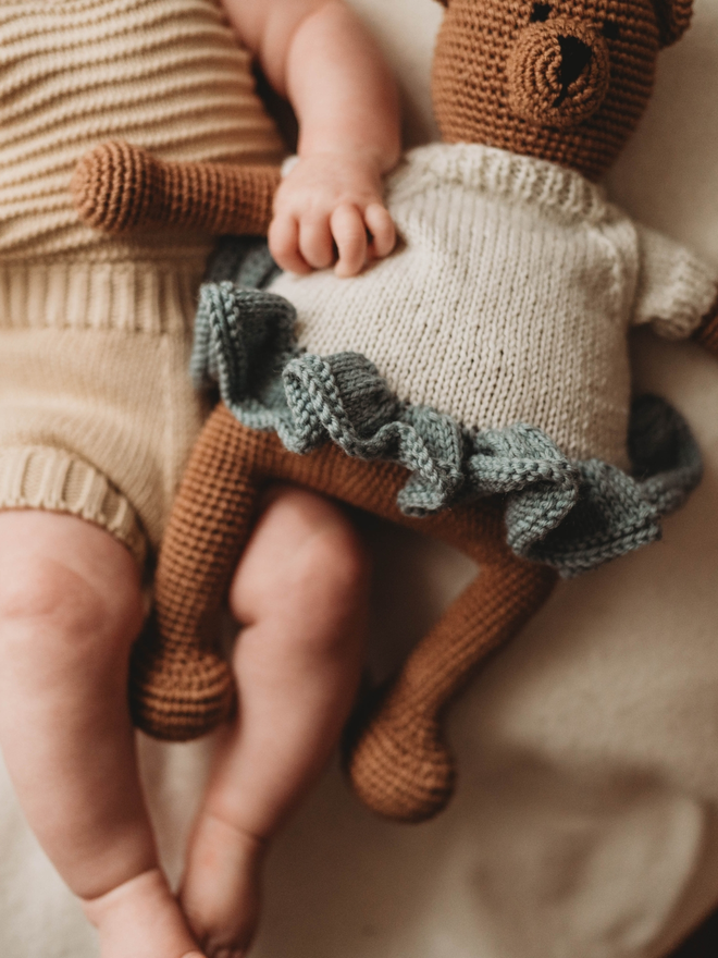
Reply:
<svg viewBox="0 0 718 958"><path fill-rule="evenodd" d="M103 143L81 158L72 179L81 220L103 233L124 233L152 220L162 195L162 165L126 143Z"/></svg>

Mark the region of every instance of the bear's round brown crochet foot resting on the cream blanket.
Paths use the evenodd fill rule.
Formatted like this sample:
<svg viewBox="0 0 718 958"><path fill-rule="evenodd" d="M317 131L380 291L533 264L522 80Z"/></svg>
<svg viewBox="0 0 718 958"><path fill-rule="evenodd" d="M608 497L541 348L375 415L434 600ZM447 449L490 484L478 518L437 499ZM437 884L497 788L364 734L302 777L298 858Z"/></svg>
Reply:
<svg viewBox="0 0 718 958"><path fill-rule="evenodd" d="M454 794L454 759L435 717L406 704L392 705L389 698L349 746L347 772L372 811L400 822L423 822L438 814Z"/></svg>

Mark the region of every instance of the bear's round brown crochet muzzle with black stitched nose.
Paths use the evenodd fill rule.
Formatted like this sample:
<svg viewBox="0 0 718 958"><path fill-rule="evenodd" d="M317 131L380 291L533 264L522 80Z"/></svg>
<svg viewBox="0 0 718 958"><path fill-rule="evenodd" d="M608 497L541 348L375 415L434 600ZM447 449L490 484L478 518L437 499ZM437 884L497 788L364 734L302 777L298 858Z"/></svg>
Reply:
<svg viewBox="0 0 718 958"><path fill-rule="evenodd" d="M603 103L610 62L603 36L559 17L525 27L507 63L510 109L523 120L574 126Z"/></svg>

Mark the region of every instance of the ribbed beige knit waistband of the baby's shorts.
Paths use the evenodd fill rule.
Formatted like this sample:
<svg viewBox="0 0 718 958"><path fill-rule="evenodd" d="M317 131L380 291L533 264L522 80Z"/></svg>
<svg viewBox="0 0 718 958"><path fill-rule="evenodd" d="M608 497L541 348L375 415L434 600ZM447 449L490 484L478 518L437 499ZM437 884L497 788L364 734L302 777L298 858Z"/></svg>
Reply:
<svg viewBox="0 0 718 958"><path fill-rule="evenodd" d="M202 263L0 265L0 329L191 330Z"/></svg>

